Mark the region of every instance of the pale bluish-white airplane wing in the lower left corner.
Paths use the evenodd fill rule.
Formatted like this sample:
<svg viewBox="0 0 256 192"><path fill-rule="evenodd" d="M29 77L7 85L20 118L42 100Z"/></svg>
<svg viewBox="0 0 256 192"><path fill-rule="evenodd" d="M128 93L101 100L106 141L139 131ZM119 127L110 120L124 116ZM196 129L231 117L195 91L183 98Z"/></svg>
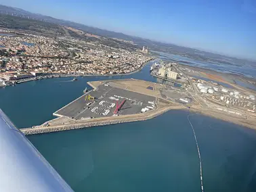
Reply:
<svg viewBox="0 0 256 192"><path fill-rule="evenodd" d="M1 110L0 191L72 191Z"/></svg>

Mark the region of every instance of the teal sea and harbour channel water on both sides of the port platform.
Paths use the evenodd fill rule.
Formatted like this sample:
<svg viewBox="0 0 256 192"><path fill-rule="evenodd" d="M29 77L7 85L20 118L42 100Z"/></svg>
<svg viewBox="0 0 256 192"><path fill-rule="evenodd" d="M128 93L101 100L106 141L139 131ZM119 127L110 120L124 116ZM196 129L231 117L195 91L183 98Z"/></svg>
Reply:
<svg viewBox="0 0 256 192"><path fill-rule="evenodd" d="M150 62L152 64L152 62ZM49 78L0 89L0 107L24 128L83 94L87 81L150 76L150 64L128 76ZM74 191L256 191L256 131L175 110L144 122L98 126L28 139Z"/></svg>

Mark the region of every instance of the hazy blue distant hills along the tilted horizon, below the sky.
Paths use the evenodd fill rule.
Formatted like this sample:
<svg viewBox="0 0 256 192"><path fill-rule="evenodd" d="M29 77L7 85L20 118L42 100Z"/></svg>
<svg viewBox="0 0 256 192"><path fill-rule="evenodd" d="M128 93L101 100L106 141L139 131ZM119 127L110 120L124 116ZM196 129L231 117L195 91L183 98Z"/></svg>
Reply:
<svg viewBox="0 0 256 192"><path fill-rule="evenodd" d="M69 26L72 28L83 30L83 31L91 33L91 34L97 34L102 37L123 39L125 41L133 41L135 44L137 44L140 47L147 46L147 47L150 47L150 49L154 50L154 51L178 54L178 55L182 55L185 57L198 59L201 61L221 62L221 63L225 62L226 64L235 64L235 65L249 64L252 66L256 66L256 62L249 61L248 59L238 59L238 58L229 57L226 55L219 55L216 53L209 53L207 51L200 51L198 49L192 49L189 47L173 45L171 43L161 43L161 42L152 41L149 39L143 39L141 37L133 37L131 35L123 34L122 32L114 32L114 31L110 31L110 30L104 30L104 29L100 29L100 28L86 26L84 24L79 24L76 22L70 22L68 20L60 20L60 19L52 18L50 16L34 14L34 13L31 13L24 9L19 9L16 7L0 5L0 14L16 16L19 18L25 18L25 19L29 19L29 20L37 20L39 22L47 22L47 23L57 24L60 26ZM51 27L51 26L49 25L49 27Z"/></svg>

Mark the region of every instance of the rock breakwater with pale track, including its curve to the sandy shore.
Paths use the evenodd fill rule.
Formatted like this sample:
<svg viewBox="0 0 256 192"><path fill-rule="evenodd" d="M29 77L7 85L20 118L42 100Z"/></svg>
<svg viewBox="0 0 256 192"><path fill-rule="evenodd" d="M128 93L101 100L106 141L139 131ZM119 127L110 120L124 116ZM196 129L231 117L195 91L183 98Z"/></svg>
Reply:
<svg viewBox="0 0 256 192"><path fill-rule="evenodd" d="M53 126L36 126L34 128L20 128L20 131L24 135L35 135L35 134L43 134L43 133L52 133L52 132L63 131L63 130L89 128L92 126L105 126L105 125L109 125L109 124L137 122L137 121L143 121L143 120L148 120L148 119L154 118L154 117L159 116L169 110L181 110L184 108L185 107L182 107L180 105L179 106L168 106L168 107L163 107L158 110L153 110L153 111L145 113L145 114L118 116L118 117L107 118L105 120L93 119L94 121L91 121L91 122L77 122L77 123L74 122L74 123L70 123L70 124L58 124L58 125L53 125Z"/></svg>

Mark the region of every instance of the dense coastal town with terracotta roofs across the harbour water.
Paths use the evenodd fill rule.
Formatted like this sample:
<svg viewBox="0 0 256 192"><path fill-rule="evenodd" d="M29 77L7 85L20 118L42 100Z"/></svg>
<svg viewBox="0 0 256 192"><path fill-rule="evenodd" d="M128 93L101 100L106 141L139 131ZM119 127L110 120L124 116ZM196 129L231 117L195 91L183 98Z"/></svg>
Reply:
<svg viewBox="0 0 256 192"><path fill-rule="evenodd" d="M45 77L129 74L152 59L147 52L145 47L131 51L98 41L0 30L0 87Z"/></svg>

